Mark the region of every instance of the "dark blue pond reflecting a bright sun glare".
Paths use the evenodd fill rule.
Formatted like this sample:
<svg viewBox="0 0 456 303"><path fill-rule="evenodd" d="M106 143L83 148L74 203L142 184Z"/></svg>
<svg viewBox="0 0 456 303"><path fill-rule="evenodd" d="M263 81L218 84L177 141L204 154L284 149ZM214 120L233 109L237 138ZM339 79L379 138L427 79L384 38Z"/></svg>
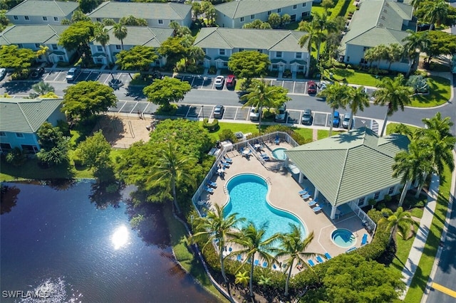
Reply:
<svg viewBox="0 0 456 303"><path fill-rule="evenodd" d="M145 243L132 230L128 192L103 206L93 203L103 195L90 182L3 185L1 302L43 302L26 295L38 290L46 302L217 301L176 264L167 243Z"/></svg>

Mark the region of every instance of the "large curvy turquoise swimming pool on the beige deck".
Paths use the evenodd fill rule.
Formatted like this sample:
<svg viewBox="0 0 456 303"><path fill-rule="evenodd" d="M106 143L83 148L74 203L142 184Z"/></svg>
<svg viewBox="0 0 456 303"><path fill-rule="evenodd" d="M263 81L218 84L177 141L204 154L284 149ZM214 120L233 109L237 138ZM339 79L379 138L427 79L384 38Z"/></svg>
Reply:
<svg viewBox="0 0 456 303"><path fill-rule="evenodd" d="M251 220L257 227L267 222L265 239L274 233L289 232L289 223L301 227L303 237L306 228L293 214L274 208L266 201L269 186L266 180L256 174L239 174L227 182L229 201L224 206L224 216L238 213L238 218ZM240 226L238 226L240 227Z"/></svg>

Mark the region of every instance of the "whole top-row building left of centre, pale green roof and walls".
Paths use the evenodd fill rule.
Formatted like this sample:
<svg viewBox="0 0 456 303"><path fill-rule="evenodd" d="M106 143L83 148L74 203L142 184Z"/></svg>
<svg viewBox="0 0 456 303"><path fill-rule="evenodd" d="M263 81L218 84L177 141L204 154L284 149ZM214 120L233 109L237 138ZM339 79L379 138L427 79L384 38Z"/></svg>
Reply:
<svg viewBox="0 0 456 303"><path fill-rule="evenodd" d="M93 22L103 19L113 19L118 22L120 18L135 16L147 21L150 27L169 28L171 21L176 21L180 26L192 25L192 6L180 3L157 2L113 2L107 1L100 4L97 9L87 15Z"/></svg>

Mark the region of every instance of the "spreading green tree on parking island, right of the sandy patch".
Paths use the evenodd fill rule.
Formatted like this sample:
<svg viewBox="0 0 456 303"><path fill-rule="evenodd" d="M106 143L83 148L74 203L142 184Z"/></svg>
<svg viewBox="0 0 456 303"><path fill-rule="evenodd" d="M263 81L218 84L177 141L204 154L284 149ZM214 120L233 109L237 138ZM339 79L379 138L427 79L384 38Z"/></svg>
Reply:
<svg viewBox="0 0 456 303"><path fill-rule="evenodd" d="M183 100L190 90L192 90L192 86L187 81L165 77L144 87L142 92L147 96L149 102L161 105L166 111L170 110L170 102Z"/></svg>

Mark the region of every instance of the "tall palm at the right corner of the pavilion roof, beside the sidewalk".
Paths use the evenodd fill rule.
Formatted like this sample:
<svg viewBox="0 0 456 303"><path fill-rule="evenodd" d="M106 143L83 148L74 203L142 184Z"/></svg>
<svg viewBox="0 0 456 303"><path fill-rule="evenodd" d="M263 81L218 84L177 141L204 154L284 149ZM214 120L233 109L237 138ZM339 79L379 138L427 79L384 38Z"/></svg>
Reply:
<svg viewBox="0 0 456 303"><path fill-rule="evenodd" d="M422 152L417 142L410 142L408 151L400 151L394 157L393 177L400 176L400 182L404 184L402 193L400 194L399 206L402 206L405 195L407 194L410 184L413 180L417 180L418 184L423 183L423 174L425 172L425 153Z"/></svg>

